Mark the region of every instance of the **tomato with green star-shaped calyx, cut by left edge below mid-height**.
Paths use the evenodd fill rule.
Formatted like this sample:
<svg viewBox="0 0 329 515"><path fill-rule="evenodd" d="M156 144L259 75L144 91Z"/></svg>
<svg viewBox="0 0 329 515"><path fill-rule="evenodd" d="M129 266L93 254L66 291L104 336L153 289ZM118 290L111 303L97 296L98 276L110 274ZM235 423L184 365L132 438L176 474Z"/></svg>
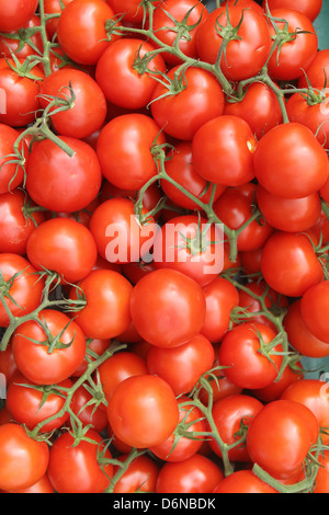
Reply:
<svg viewBox="0 0 329 515"><path fill-rule="evenodd" d="M0 254L1 294L13 317L24 317L41 304L44 282L36 275L29 260L14 253ZM9 327L10 319L0 302L0 327Z"/></svg>

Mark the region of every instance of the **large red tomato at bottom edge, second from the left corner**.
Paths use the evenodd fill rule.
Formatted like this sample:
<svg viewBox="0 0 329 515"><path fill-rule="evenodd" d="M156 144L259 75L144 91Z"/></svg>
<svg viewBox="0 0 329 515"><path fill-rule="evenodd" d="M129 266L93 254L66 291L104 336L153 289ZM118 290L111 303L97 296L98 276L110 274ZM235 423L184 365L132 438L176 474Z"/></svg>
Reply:
<svg viewBox="0 0 329 515"><path fill-rule="evenodd" d="M78 445L75 437L65 432L56 438L49 451L47 474L58 493L103 493L111 484L113 465L98 462L98 453L104 451L104 442L99 433L89 430ZM109 449L105 458L111 459Z"/></svg>

